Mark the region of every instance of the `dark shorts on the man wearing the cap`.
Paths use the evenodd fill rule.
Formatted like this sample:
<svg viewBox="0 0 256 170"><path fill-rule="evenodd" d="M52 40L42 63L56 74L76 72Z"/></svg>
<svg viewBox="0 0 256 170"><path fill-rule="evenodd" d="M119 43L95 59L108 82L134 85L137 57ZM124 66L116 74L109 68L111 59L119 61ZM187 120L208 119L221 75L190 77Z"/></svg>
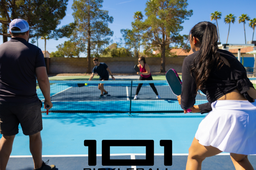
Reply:
<svg viewBox="0 0 256 170"><path fill-rule="evenodd" d="M33 135L43 129L41 102L0 102L0 133L12 136L19 133L19 124L24 135Z"/></svg>

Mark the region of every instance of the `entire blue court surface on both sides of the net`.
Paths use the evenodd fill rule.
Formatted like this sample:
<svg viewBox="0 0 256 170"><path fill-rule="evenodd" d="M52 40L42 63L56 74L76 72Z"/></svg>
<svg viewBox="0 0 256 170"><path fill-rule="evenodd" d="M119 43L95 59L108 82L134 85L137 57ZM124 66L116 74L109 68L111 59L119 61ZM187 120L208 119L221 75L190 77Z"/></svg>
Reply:
<svg viewBox="0 0 256 170"><path fill-rule="evenodd" d="M113 85L109 85L109 96L106 95L100 100L98 89L95 89L96 91L91 95L84 92L87 88L97 88L97 84L78 87L76 83L73 85L51 83L52 102L56 108L52 108L49 115L42 109L43 160L49 160L48 164L55 164L58 170L184 170L188 149L199 123L206 114L181 113L180 108L177 107L176 96L172 96L172 92L163 82L157 83L155 86L162 96L161 99L155 99L156 95L145 83L138 95L140 99L136 101L133 100L135 92L131 88L136 90L137 84L119 85L118 88L121 90L117 94L115 94L119 91L115 90L117 87L112 88ZM197 103L206 102L205 96L198 95ZM38 96L43 101L40 91ZM72 113L73 110L81 113ZM108 111L118 113L107 113ZM85 140L96 140L96 165L89 165L89 147L84 146ZM151 162L151 165L141 166L124 164L103 166L102 140L153 140L154 165ZM172 166L165 165L166 153L165 147L160 146L161 140L172 140L172 159L168 161L172 160ZM148 159L146 146L132 145L110 146L110 159L116 162ZM248 158L256 169L256 155L250 155ZM23 135L19 126L7 170L32 169L29 137ZM234 169L229 153L207 158L202 164L202 170Z"/></svg>

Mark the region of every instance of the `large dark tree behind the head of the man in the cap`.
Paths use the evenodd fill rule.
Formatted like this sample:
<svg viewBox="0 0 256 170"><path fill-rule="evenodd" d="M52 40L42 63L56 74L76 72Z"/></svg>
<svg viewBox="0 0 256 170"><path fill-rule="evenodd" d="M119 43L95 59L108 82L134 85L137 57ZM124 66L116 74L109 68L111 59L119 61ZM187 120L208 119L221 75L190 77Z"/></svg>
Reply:
<svg viewBox="0 0 256 170"><path fill-rule="evenodd" d="M0 11L6 15L6 20L0 20L0 23L9 26L15 18L26 20L32 27L30 37L35 42L36 37L56 31L60 20L66 15L67 2L68 0L1 0ZM4 32L0 35L10 37L10 34Z"/></svg>

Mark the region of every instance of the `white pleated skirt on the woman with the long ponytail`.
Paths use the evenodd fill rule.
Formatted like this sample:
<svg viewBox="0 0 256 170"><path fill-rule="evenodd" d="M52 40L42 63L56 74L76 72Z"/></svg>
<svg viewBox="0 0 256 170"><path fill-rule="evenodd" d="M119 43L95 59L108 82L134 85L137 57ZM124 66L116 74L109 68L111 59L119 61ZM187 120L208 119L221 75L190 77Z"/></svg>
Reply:
<svg viewBox="0 0 256 170"><path fill-rule="evenodd" d="M204 146L237 154L256 154L256 102L217 100L195 134Z"/></svg>

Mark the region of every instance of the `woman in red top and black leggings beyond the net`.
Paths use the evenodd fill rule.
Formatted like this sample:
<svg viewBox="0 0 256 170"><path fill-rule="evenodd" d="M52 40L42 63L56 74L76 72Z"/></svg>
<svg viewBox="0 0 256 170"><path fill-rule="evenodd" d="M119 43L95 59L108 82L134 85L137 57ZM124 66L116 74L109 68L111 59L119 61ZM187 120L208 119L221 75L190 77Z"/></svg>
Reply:
<svg viewBox="0 0 256 170"><path fill-rule="evenodd" d="M140 57L138 60L138 68L140 68L140 72L137 72L137 74L140 74L140 80L153 80L150 69L148 64L146 64L145 57ZM134 100L137 100L138 94L140 92L140 88L143 85L143 83L139 83L137 90L136 90L136 95L134 96ZM153 89L154 93L157 95L157 99L161 99L161 97L157 93L157 89L154 86L154 83L149 83L150 87Z"/></svg>

